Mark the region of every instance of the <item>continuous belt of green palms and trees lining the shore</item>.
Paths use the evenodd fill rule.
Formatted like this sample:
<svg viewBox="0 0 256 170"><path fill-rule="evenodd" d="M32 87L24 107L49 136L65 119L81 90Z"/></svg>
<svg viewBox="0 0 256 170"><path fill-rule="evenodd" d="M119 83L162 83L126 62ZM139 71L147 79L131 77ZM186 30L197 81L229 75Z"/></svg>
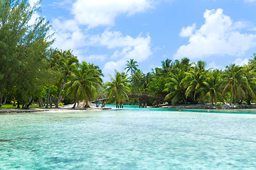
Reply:
<svg viewBox="0 0 256 170"><path fill-rule="evenodd" d="M0 107L11 103L28 108L37 103L38 107L58 108L70 103L75 108L81 101L87 107L97 98L109 98L117 107L139 104L138 99L128 98L129 91L162 94L172 105L250 104L256 100L255 54L244 66L230 64L223 69L211 69L206 62L188 58L166 59L161 67L146 73L129 59L124 70L116 71L103 84L100 67L80 62L72 50L51 48L54 40L48 21L37 18L31 23L33 13L40 10L38 4L4 0L0 8Z"/></svg>

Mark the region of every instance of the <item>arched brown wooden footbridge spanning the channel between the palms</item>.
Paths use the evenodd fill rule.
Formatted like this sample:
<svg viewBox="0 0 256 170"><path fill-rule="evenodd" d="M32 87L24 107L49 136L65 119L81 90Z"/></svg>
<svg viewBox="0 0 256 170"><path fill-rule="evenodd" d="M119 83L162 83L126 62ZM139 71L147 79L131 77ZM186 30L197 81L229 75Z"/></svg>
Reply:
<svg viewBox="0 0 256 170"><path fill-rule="evenodd" d="M146 108L146 101L148 98L152 98L156 101L157 104L164 102L165 96L162 94L153 94L146 91L132 91L127 93L128 98L139 98L139 107L140 108ZM112 97L114 98L114 97ZM95 103L96 106L100 106L102 104L102 107L105 107L106 100L110 98L102 98L99 100L92 101L92 103Z"/></svg>

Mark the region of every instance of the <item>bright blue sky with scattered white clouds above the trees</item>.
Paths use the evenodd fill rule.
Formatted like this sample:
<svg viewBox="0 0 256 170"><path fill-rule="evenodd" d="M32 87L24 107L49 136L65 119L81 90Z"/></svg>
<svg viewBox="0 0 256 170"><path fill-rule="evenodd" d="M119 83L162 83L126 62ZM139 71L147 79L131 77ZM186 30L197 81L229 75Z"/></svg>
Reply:
<svg viewBox="0 0 256 170"><path fill-rule="evenodd" d="M29 0L33 5L37 0ZM134 59L142 72L167 58L207 68L247 64L256 52L256 0L42 0L52 47L73 50L105 77Z"/></svg>

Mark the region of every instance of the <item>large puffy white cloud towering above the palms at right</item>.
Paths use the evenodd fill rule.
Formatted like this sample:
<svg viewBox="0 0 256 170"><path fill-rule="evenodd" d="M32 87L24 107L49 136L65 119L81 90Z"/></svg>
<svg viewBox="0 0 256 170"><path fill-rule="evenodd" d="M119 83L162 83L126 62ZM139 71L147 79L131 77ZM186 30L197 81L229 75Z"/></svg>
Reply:
<svg viewBox="0 0 256 170"><path fill-rule="evenodd" d="M212 55L240 56L256 46L256 35L240 33L242 23L234 23L229 16L223 14L222 9L206 10L203 17L206 23L190 35L188 45L178 48L174 59L202 59Z"/></svg>

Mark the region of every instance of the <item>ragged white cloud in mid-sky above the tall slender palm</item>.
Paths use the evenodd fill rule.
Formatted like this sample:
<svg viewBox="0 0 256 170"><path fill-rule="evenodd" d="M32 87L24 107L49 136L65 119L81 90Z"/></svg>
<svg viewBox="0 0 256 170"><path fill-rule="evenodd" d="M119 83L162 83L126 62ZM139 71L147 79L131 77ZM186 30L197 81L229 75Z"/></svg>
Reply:
<svg viewBox="0 0 256 170"><path fill-rule="evenodd" d="M102 35L92 38L92 42L110 49L121 48L121 50L115 50L111 56L112 60L119 60L117 62L107 62L102 69L103 72L111 75L114 74L114 69L117 69L117 71L123 70L127 60L134 59L137 62L142 62L152 54L150 47L151 38L149 35L146 38L143 38L142 35L132 38L129 35L124 36L118 31L105 30ZM105 77L105 79L109 79L109 77Z"/></svg>

